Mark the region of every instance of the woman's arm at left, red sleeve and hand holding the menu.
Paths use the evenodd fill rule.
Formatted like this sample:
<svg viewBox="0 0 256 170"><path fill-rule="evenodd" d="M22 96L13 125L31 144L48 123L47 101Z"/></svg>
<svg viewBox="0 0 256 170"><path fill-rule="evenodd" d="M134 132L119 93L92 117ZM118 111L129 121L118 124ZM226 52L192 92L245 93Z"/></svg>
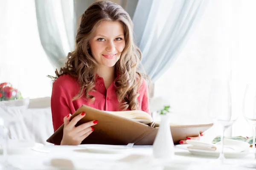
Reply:
<svg viewBox="0 0 256 170"><path fill-rule="evenodd" d="M72 85L69 86L69 89L70 87ZM70 107L73 106L68 105L71 99L67 96L68 94L62 88L61 82L56 80L52 85L52 124L54 131L56 131L64 123L61 145L78 145L93 132L94 127L92 126L96 125L98 121L93 120L76 127L75 125L85 116L85 113L79 114L79 116L70 121L70 113L72 113L72 108Z"/></svg>

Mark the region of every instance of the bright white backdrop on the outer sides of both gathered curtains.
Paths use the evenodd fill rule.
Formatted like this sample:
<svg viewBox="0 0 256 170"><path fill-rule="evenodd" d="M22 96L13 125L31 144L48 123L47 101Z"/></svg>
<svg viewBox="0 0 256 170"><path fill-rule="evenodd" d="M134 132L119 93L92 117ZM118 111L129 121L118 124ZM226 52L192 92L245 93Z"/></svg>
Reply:
<svg viewBox="0 0 256 170"><path fill-rule="evenodd" d="M255 0L209 1L185 48L155 84L155 96L168 99L177 117L205 119L211 80L229 77L233 111L240 115L233 135L252 135L241 101L245 83L256 78L255 6ZM54 68L41 47L34 0L8 1L0 7L0 20L0 82L18 85L24 97L50 96L46 76Z"/></svg>

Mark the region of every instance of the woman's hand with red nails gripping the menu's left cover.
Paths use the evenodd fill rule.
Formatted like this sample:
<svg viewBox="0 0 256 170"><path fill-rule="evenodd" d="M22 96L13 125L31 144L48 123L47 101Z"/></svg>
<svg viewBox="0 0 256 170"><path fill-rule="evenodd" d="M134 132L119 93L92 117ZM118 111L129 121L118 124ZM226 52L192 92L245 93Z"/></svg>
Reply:
<svg viewBox="0 0 256 170"><path fill-rule="evenodd" d="M85 116L85 113L81 113L74 117L70 121L71 114L68 114L64 117L64 129L63 129L63 137L61 140L61 145L78 145L89 136L93 130L93 125L98 123L97 120L90 121L75 127L76 123L79 122Z"/></svg>

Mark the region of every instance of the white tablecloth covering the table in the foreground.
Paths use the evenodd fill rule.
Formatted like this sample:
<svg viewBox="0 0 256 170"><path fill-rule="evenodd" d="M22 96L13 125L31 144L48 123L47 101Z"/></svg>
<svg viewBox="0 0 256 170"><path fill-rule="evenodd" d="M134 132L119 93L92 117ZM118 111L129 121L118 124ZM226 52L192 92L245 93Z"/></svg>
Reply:
<svg viewBox="0 0 256 170"><path fill-rule="evenodd" d="M134 146L123 153L91 153L78 146L44 146L41 153L26 150L22 154L9 155L9 162L21 170L200 170L204 162L216 158L193 156L189 151L175 148L175 156L170 160L154 159L151 146ZM243 159L228 159L234 163L255 164L256 159L250 154ZM3 156L0 155L0 162ZM249 168L236 164L223 169L246 170Z"/></svg>

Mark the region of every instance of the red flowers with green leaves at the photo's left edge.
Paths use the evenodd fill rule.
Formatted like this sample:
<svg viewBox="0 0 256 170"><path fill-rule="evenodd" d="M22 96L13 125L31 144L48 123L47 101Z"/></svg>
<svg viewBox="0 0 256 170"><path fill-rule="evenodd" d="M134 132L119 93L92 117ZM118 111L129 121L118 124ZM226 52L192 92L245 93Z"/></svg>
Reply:
<svg viewBox="0 0 256 170"><path fill-rule="evenodd" d="M0 83L0 101L23 99L20 91L13 88L8 82Z"/></svg>

